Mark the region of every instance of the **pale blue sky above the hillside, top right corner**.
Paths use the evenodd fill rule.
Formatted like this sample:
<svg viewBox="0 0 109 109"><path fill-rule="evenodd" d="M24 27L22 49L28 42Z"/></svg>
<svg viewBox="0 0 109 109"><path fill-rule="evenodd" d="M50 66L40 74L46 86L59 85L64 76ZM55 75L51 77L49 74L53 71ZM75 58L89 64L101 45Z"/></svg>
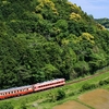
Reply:
<svg viewBox="0 0 109 109"><path fill-rule="evenodd" d="M109 0L69 0L72 3L76 3L88 15L93 15L94 19L109 19Z"/></svg>

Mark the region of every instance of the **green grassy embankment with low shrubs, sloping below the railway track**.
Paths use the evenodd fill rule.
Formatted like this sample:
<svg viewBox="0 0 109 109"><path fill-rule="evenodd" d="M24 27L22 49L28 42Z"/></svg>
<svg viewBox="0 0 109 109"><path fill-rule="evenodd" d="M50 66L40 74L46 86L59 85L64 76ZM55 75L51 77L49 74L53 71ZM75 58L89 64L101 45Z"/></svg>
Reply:
<svg viewBox="0 0 109 109"><path fill-rule="evenodd" d="M104 71L105 70L99 72ZM108 84L99 85L99 83L101 83L101 81L104 81L107 77L109 77L109 71L98 76L94 76L93 78L74 83L71 85L65 85L63 87L58 87L53 89L48 89L46 92L39 92L22 97L1 100L0 105L10 102L14 106L14 109L51 109L53 106L62 104L66 100L77 100L77 97L85 92L89 92L95 88L109 89ZM93 84L93 87L87 87L87 85L89 86L90 84ZM65 93L65 98L63 98L62 100L57 100L56 98L58 94L57 92L59 89L62 89L62 92ZM90 107L90 109L93 108Z"/></svg>

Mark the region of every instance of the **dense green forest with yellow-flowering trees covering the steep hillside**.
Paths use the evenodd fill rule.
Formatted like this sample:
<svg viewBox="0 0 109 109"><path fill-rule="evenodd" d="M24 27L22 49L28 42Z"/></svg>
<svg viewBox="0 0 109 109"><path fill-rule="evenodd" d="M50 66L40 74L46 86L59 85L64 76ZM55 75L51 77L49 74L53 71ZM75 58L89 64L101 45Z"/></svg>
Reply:
<svg viewBox="0 0 109 109"><path fill-rule="evenodd" d="M0 89L83 76L109 65L109 32L68 0L0 1Z"/></svg>

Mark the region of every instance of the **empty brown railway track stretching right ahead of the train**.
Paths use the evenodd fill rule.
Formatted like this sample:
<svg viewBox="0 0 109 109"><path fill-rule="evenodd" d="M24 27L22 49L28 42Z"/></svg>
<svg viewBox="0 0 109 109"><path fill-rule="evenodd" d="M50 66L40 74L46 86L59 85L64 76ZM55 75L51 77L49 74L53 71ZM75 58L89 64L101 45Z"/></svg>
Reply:
<svg viewBox="0 0 109 109"><path fill-rule="evenodd" d="M106 72L108 72L108 71L109 71L109 70L106 70L106 71L99 72L99 73L97 73L97 74L94 74L94 75L90 75L90 76L87 76L87 77L84 77L84 78L81 78L81 80L77 80L77 81L69 82L69 83L66 83L65 85L70 85L70 84L78 83L78 82L82 82L82 81L86 81L86 80L93 78L93 77L95 77L95 76L98 76L98 75L100 75L100 74L104 74L104 73L106 73Z"/></svg>

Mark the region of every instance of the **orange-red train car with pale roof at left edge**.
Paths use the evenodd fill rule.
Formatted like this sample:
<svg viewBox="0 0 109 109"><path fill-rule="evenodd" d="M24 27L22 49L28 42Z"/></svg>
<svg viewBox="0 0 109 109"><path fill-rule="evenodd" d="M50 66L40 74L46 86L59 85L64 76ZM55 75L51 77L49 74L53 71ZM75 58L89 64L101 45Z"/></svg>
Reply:
<svg viewBox="0 0 109 109"><path fill-rule="evenodd" d="M21 96L21 95L29 94L33 92L34 92L33 85L3 89L3 90L0 90L0 99Z"/></svg>

